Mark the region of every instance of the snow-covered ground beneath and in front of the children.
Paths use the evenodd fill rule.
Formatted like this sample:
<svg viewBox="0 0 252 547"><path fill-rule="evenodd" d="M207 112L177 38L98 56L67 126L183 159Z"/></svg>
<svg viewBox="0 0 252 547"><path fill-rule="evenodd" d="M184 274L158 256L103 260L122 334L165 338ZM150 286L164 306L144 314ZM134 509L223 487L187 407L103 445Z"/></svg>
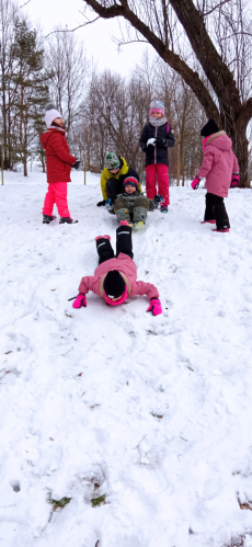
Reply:
<svg viewBox="0 0 252 547"><path fill-rule="evenodd" d="M154 318L142 297L68 303L117 227L98 176L68 189L79 224L46 226L45 175L0 186L0 546L251 547L252 192L230 192L227 235L199 224L204 190L148 215Z"/></svg>

